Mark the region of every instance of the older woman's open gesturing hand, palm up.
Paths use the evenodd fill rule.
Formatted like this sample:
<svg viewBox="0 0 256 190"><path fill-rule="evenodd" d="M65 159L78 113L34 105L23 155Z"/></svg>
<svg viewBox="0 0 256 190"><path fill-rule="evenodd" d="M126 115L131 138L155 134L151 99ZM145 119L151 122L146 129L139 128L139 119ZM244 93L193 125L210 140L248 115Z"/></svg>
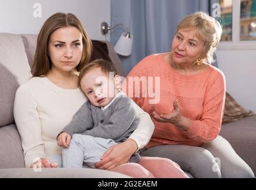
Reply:
<svg viewBox="0 0 256 190"><path fill-rule="evenodd" d="M180 106L178 106L177 100L173 102L174 109L171 113L164 113L159 115L157 112L153 112L154 118L158 122L169 123L177 126L181 131L187 131L190 129L190 119L181 115Z"/></svg>

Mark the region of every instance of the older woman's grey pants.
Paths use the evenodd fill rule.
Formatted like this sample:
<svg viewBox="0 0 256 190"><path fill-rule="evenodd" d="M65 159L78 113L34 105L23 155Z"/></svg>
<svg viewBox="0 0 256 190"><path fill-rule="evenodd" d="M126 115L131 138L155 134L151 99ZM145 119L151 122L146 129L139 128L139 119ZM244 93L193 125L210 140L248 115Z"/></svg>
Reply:
<svg viewBox="0 0 256 190"><path fill-rule="evenodd" d="M159 145L144 149L141 156L164 157L180 165L193 178L254 178L254 173L223 137L201 147Z"/></svg>

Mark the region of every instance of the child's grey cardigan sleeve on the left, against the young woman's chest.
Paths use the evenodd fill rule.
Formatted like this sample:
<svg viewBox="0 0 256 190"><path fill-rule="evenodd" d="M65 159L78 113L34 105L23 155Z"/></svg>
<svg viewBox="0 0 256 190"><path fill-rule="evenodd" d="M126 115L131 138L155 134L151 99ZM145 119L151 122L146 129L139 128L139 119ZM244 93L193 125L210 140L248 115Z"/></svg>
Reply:
<svg viewBox="0 0 256 190"><path fill-rule="evenodd" d="M91 104L87 101L80 107L69 124L67 124L61 132L67 132L68 134L73 135L84 132L92 127Z"/></svg>

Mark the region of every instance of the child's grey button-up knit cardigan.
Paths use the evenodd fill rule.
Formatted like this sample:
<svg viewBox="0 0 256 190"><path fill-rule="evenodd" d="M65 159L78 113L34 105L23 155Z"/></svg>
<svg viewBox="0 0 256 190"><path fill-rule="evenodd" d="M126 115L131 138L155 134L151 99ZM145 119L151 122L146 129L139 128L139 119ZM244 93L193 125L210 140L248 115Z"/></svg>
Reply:
<svg viewBox="0 0 256 190"><path fill-rule="evenodd" d="M87 101L61 132L67 132L70 135L84 134L110 138L116 143L122 143L127 140L139 123L134 104L133 100L125 94L116 97L106 110L95 107L90 101ZM139 161L140 156L137 153L129 160L129 162Z"/></svg>

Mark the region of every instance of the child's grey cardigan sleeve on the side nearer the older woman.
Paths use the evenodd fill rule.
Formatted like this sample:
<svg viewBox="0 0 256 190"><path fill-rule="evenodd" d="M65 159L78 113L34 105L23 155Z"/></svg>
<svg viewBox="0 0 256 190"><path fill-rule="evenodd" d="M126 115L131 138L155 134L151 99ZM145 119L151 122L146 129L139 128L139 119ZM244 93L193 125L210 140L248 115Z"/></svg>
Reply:
<svg viewBox="0 0 256 190"><path fill-rule="evenodd" d="M110 116L107 124L98 124L83 134L113 140L124 135L137 117L130 101L128 98L121 98L115 107L115 113Z"/></svg>

